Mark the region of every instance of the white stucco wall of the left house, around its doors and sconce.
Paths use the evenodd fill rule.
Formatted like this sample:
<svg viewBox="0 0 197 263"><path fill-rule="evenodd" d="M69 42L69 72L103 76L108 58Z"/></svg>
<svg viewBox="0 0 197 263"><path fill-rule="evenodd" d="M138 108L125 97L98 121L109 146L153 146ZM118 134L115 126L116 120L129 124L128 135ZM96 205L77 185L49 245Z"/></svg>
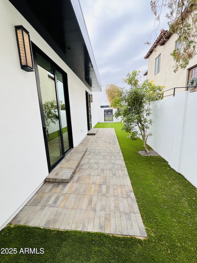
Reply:
<svg viewBox="0 0 197 263"><path fill-rule="evenodd" d="M31 41L67 73L74 146L87 134L85 91L91 92L8 0L0 1L0 23L1 229L48 175L35 72L20 68L14 26L25 27ZM93 124L98 122L97 98L91 104Z"/></svg>

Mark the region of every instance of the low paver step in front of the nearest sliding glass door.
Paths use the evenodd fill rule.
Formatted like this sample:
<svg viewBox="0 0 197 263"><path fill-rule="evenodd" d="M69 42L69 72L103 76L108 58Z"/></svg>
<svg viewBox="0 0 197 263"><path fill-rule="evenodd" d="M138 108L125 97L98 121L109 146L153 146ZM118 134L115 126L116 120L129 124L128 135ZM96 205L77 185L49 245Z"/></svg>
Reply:
<svg viewBox="0 0 197 263"><path fill-rule="evenodd" d="M79 163L87 151L87 147L74 147L63 160L50 172L45 181L68 183L74 175Z"/></svg>

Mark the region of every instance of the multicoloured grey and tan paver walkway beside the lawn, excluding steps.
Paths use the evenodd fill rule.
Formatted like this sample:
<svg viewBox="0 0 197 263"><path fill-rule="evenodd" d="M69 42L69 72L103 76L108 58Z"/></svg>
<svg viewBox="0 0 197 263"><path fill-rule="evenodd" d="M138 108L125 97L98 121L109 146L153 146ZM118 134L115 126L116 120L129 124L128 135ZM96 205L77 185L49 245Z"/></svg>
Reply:
<svg viewBox="0 0 197 263"><path fill-rule="evenodd" d="M87 152L70 182L45 182L12 223L146 237L115 130L80 146Z"/></svg>

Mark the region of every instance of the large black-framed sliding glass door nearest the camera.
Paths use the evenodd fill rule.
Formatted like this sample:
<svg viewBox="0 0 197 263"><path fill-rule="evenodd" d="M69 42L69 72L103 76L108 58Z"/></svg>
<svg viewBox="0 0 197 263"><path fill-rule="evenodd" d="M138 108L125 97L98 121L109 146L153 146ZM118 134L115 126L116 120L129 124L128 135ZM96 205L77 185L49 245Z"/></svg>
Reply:
<svg viewBox="0 0 197 263"><path fill-rule="evenodd" d="M42 52L34 51L34 62L50 172L73 147L67 76Z"/></svg>

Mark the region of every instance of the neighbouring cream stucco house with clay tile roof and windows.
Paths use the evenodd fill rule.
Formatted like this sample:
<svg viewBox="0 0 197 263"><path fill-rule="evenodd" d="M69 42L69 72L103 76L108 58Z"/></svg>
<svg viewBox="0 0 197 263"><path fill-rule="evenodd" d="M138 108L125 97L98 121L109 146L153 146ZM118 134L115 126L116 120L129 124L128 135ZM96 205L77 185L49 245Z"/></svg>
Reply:
<svg viewBox="0 0 197 263"><path fill-rule="evenodd" d="M154 80L157 85L165 86L166 98L173 96L174 88L176 88L175 94L187 90L185 87L188 80L197 77L197 55L190 60L187 68L179 69L176 73L173 71L174 59L170 54L177 45L177 35L162 29L144 57L148 59L148 70L144 76Z"/></svg>

